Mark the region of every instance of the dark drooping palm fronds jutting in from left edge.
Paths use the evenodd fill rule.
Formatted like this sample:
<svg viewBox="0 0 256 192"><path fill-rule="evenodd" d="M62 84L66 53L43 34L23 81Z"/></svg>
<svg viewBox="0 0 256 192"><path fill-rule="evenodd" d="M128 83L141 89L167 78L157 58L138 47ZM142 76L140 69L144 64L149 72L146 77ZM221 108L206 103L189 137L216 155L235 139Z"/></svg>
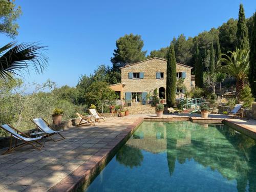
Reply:
<svg viewBox="0 0 256 192"><path fill-rule="evenodd" d="M29 73L33 67L37 73L42 73L48 66L48 58L43 51L45 46L36 43L10 42L0 48L0 78L13 78L13 75L21 76L23 72Z"/></svg>

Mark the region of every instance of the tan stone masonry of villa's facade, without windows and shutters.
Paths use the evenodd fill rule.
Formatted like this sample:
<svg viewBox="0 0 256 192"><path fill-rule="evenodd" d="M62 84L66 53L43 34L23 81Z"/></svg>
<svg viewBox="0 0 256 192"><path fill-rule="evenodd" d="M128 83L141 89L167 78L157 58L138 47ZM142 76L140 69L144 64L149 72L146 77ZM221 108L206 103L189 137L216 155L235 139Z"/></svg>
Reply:
<svg viewBox="0 0 256 192"><path fill-rule="evenodd" d="M136 63L135 65L130 65L121 68L122 83L125 84L123 87L123 92L150 92L154 89L159 89L163 87L166 89L166 67L167 62L164 59L153 58L147 59ZM188 66L176 65L177 72L186 72L186 78L184 84L187 90L191 88L191 68ZM144 73L143 79L129 79L129 73ZM156 73L163 72L164 78L157 79Z"/></svg>

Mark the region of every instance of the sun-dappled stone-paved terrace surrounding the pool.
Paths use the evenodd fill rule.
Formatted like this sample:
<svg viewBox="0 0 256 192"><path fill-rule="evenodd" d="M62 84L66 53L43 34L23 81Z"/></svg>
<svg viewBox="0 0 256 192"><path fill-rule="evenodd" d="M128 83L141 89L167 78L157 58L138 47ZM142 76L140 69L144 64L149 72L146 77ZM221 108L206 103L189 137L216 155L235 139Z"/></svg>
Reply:
<svg viewBox="0 0 256 192"><path fill-rule="evenodd" d="M95 126L72 127L63 131L65 140L56 143L49 140L41 151L28 146L0 155L0 191L72 190L79 181L88 179L91 170L135 129L143 117L155 117L155 114L106 118L106 122ZM223 115L210 117L226 118ZM164 118L180 117L164 115ZM244 123L256 133L255 120L232 121Z"/></svg>

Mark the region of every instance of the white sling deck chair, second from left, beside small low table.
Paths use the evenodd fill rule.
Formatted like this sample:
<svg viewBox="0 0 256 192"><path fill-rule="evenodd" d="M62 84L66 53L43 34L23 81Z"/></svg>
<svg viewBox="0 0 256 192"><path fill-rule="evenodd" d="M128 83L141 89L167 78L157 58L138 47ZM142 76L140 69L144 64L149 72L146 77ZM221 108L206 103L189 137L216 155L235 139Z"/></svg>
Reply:
<svg viewBox="0 0 256 192"><path fill-rule="evenodd" d="M41 130L42 132L45 132L47 137L50 137L54 142L56 141L60 141L62 139L65 139L65 137L63 137L59 132L63 131L54 131L50 128L50 124L43 118L37 118L37 119L32 119L33 123L36 124L36 127ZM59 140L54 140L51 136L54 134L59 134L62 138ZM45 137L46 137L45 136Z"/></svg>

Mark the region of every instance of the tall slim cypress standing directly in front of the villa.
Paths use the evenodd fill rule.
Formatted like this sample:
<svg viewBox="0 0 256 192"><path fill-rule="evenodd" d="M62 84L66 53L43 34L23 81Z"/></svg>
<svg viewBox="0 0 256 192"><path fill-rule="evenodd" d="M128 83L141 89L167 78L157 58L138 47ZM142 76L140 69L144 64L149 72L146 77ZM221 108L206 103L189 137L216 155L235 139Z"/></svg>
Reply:
<svg viewBox="0 0 256 192"><path fill-rule="evenodd" d="M175 105L176 101L176 59L174 45L171 44L167 54L166 71L166 102L168 108Z"/></svg>

